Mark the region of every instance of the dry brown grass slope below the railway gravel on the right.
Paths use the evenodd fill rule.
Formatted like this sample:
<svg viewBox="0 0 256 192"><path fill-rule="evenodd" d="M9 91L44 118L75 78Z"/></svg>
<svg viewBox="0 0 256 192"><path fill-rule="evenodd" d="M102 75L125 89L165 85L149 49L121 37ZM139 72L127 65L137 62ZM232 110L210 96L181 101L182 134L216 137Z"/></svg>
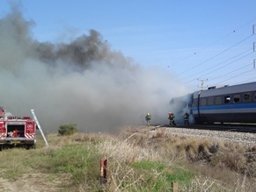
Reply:
<svg viewBox="0 0 256 192"><path fill-rule="evenodd" d="M208 185L210 188L219 186L224 188L223 191L227 191L227 188L231 188L230 191L254 191L253 188L256 188L255 146L221 140L191 139L168 134L165 129L128 129L121 134L121 138L128 138L132 146L147 148L165 162L171 160L172 163L194 170L201 178L211 178L206 181L197 178L188 187L193 191L205 191ZM202 190L200 186L205 186L205 189Z"/></svg>

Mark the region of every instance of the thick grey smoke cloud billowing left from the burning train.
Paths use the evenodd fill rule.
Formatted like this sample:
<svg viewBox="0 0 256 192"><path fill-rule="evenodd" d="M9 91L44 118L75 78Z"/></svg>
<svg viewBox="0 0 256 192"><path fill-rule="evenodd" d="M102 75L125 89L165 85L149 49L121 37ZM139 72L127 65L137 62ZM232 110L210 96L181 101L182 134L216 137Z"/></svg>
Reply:
<svg viewBox="0 0 256 192"><path fill-rule="evenodd" d="M169 101L185 88L165 70L143 68L91 30L69 43L33 39L33 21L14 6L0 19L0 105L15 116L34 109L44 131L77 124L81 132L168 123Z"/></svg>

